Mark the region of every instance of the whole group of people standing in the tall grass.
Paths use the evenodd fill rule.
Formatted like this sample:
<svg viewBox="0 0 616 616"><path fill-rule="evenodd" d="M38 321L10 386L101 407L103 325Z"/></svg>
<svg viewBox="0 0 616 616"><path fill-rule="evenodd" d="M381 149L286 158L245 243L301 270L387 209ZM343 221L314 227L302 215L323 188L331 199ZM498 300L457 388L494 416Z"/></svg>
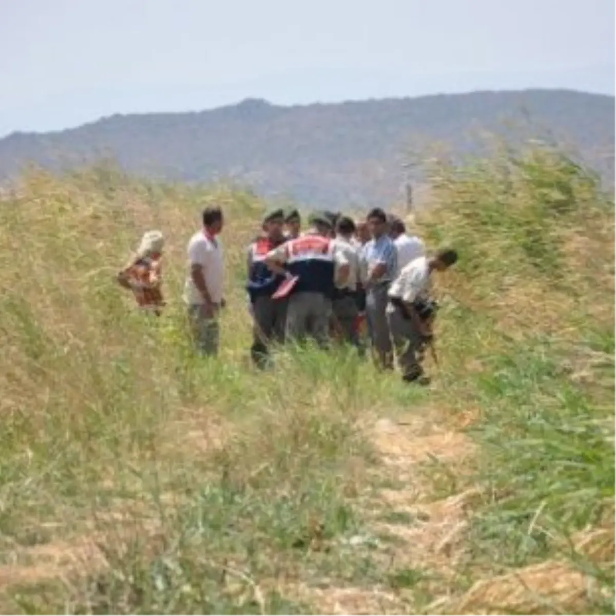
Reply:
<svg viewBox="0 0 616 616"><path fill-rule="evenodd" d="M299 211L274 209L248 246L254 364L265 368L272 347L312 338L323 349L332 341L352 345L362 356L370 346L379 367L392 369L397 359L405 381L427 382L421 364L437 310L431 275L453 265L456 251L428 256L423 241L380 208L362 221L323 211L307 222L302 230ZM195 346L204 355L219 349L219 312L225 306L223 226L220 208L205 209L203 228L187 246L184 302ZM145 233L134 258L118 274L139 305L155 314L164 306L163 245L162 233ZM362 335L363 322L367 336Z"/></svg>

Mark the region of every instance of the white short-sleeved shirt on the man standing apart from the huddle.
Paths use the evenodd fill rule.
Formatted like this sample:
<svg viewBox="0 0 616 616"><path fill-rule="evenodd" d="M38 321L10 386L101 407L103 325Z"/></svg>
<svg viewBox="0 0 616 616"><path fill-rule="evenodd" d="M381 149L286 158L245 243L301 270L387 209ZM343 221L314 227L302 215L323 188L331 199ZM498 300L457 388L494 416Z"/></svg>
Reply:
<svg viewBox="0 0 616 616"><path fill-rule="evenodd" d="M188 242L188 275L184 284L184 301L187 304L203 304L205 301L192 279L192 266L200 265L203 280L214 304L222 301L224 286L224 262L220 238L198 231Z"/></svg>

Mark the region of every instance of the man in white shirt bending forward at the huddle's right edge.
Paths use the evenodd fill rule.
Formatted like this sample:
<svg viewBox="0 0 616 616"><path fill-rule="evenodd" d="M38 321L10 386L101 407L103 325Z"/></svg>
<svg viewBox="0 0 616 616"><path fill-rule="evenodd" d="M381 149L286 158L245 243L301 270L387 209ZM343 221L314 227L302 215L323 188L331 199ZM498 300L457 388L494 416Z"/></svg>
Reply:
<svg viewBox="0 0 616 616"><path fill-rule="evenodd" d="M442 272L458 261L455 250L442 250L436 256L418 257L405 265L389 287L387 322L394 341L402 378L407 383L421 379L423 368L418 354L426 341L431 339L432 331L428 323L434 310L428 296L432 272Z"/></svg>

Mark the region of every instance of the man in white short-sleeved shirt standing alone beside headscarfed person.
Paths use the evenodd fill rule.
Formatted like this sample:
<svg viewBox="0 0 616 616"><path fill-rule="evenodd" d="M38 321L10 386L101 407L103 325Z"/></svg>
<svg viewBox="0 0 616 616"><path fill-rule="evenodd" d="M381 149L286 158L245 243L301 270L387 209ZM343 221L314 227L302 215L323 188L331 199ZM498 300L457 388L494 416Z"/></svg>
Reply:
<svg viewBox="0 0 616 616"><path fill-rule="evenodd" d="M188 275L184 301L197 350L217 355L220 341L218 314L225 305L221 208L203 211L203 229L188 242Z"/></svg>

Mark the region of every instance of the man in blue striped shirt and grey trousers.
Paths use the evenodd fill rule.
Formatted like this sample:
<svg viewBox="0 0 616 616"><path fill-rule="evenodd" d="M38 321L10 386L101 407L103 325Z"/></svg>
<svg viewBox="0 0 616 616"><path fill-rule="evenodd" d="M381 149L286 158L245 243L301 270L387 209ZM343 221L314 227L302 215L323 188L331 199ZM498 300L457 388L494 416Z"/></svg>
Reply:
<svg viewBox="0 0 616 616"><path fill-rule="evenodd" d="M394 367L387 324L387 291L397 274L397 252L387 233L387 215L380 208L366 217L372 239L362 249L362 282L366 290L366 316L373 352L381 367Z"/></svg>

